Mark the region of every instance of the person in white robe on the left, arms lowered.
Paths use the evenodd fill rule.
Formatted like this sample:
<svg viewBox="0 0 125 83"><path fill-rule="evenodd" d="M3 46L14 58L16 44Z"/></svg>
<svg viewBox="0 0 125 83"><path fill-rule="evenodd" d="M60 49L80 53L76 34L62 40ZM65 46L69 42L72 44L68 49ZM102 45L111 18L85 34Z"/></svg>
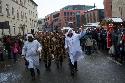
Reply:
<svg viewBox="0 0 125 83"><path fill-rule="evenodd" d="M37 40L34 40L32 34L27 34L27 40L22 48L22 56L25 56L32 80L35 80L35 69L38 76L40 75L38 49L42 49L42 46Z"/></svg>

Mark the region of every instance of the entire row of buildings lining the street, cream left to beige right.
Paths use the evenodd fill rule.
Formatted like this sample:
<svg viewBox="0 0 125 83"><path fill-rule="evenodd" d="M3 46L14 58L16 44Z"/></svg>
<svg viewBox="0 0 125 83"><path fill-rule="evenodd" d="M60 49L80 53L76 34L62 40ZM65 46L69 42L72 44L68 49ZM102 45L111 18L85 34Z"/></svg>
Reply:
<svg viewBox="0 0 125 83"><path fill-rule="evenodd" d="M0 36L54 31L62 27L81 27L104 18L125 20L125 0L104 0L104 9L89 5L68 5L38 20L37 4L33 0L0 0ZM38 28L37 28L38 27Z"/></svg>

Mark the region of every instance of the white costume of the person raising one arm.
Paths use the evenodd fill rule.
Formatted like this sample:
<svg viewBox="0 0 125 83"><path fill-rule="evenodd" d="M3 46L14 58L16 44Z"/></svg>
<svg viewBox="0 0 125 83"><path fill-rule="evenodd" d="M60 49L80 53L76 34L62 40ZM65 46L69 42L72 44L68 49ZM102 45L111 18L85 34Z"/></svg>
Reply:
<svg viewBox="0 0 125 83"><path fill-rule="evenodd" d="M80 34L76 34L70 29L68 32L73 33L72 37L66 36L65 38L65 48L68 48L69 57L71 63L74 65L75 61L80 60L83 58L83 52L80 46L80 38L85 35L85 32L81 32Z"/></svg>

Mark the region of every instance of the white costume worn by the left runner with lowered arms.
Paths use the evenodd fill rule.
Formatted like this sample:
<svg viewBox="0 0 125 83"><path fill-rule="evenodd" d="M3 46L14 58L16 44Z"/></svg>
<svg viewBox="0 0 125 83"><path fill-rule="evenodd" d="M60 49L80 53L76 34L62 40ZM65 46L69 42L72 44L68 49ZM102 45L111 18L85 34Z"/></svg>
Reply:
<svg viewBox="0 0 125 83"><path fill-rule="evenodd" d="M28 36L32 36L32 35L28 35ZM42 46L37 40L33 40L33 42L26 41L24 43L24 47L22 49L22 55L25 55L26 60L29 62L28 68L39 67L40 49L42 49Z"/></svg>

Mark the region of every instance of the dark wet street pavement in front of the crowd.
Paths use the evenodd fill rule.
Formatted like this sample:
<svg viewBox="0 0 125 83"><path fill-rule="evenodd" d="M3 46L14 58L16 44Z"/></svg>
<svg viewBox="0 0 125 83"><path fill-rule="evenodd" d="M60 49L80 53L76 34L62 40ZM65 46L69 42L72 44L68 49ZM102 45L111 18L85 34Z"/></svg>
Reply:
<svg viewBox="0 0 125 83"><path fill-rule="evenodd" d="M61 69L57 69L53 61L50 72L45 70L41 62L41 75L32 81L22 59L14 64L8 60L6 63L0 62L0 83L125 83L125 65L113 61L100 51L79 61L78 70L72 78L67 60Z"/></svg>

